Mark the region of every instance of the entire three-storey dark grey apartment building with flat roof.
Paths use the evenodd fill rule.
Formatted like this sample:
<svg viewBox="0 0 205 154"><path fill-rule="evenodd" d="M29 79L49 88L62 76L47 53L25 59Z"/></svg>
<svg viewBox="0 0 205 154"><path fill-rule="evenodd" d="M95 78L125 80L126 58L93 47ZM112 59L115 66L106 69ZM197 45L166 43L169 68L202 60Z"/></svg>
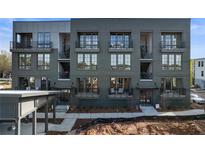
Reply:
<svg viewBox="0 0 205 154"><path fill-rule="evenodd" d="M79 106L189 105L190 19L14 22L11 45L14 87L71 88Z"/></svg>

